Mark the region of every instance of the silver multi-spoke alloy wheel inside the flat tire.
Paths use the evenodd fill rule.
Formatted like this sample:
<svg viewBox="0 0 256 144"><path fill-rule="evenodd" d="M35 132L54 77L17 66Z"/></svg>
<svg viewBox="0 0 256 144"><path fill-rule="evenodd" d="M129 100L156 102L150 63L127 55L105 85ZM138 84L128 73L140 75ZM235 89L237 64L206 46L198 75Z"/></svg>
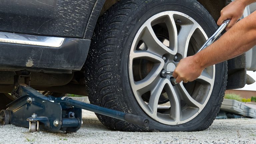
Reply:
<svg viewBox="0 0 256 144"><path fill-rule="evenodd" d="M195 118L211 96L215 65L189 83L171 84L179 61L194 55L206 41L203 28L190 16L166 11L149 18L138 30L129 55L129 79L142 110L152 119L168 125L186 123Z"/></svg>

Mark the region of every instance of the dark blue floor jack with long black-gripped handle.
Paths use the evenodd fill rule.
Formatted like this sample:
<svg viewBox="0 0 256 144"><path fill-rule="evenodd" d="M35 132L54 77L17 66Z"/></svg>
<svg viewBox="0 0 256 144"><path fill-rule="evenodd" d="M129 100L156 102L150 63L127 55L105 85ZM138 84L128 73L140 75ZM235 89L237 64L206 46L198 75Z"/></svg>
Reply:
<svg viewBox="0 0 256 144"><path fill-rule="evenodd" d="M148 119L138 115L75 101L69 97L44 96L30 87L30 72L15 73L11 95L17 99L7 105L7 110L1 110L0 125L27 127L30 132L76 132L82 125L82 109L140 126L149 124ZM21 78L24 78L24 83L20 83Z"/></svg>

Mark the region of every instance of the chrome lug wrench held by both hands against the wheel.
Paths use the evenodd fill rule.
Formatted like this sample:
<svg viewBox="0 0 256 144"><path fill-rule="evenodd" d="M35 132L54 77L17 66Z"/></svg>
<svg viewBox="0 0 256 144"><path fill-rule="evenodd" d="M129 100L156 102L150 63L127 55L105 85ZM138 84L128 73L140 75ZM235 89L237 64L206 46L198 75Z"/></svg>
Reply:
<svg viewBox="0 0 256 144"><path fill-rule="evenodd" d="M211 45L211 44L215 41L215 39L220 35L220 33L228 26L229 22L230 22L230 19L224 20L223 23L221 24L221 26L216 30L216 32L203 44L203 46L202 46L196 53L202 51L203 49L205 49L206 47L208 47L209 45ZM163 70L163 71L161 72L161 75L162 75L163 77L166 77L167 75L173 75L173 72L174 72L174 71L166 71L166 70ZM171 83L172 83L173 85L178 84L178 83L176 82L176 79L175 79L175 78L171 79Z"/></svg>

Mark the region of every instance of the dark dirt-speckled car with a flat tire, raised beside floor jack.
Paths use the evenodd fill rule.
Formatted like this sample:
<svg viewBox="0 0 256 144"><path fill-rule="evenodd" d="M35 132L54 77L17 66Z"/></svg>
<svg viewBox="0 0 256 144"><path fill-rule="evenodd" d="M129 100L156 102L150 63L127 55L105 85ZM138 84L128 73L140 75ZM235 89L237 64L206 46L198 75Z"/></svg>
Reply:
<svg viewBox="0 0 256 144"><path fill-rule="evenodd" d="M226 89L242 88L256 70L256 48L207 67L193 82L171 83L179 61L218 28L226 0L2 0L0 109L18 97L14 75L31 87L149 119L141 127L96 114L120 131L198 131L215 119ZM244 17L256 9L246 8ZM248 82L247 82L248 83Z"/></svg>

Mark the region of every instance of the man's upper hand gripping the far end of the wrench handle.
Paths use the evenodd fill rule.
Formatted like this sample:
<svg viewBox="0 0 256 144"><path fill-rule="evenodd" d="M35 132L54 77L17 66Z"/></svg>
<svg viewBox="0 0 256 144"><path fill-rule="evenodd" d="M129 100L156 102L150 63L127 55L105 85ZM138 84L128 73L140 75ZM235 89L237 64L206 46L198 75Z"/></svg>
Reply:
<svg viewBox="0 0 256 144"><path fill-rule="evenodd" d="M229 25L226 27L226 31L228 31L242 17L246 6L247 3L244 2L244 0L235 0L231 2L220 11L221 15L217 24L221 25L224 20L231 19Z"/></svg>

